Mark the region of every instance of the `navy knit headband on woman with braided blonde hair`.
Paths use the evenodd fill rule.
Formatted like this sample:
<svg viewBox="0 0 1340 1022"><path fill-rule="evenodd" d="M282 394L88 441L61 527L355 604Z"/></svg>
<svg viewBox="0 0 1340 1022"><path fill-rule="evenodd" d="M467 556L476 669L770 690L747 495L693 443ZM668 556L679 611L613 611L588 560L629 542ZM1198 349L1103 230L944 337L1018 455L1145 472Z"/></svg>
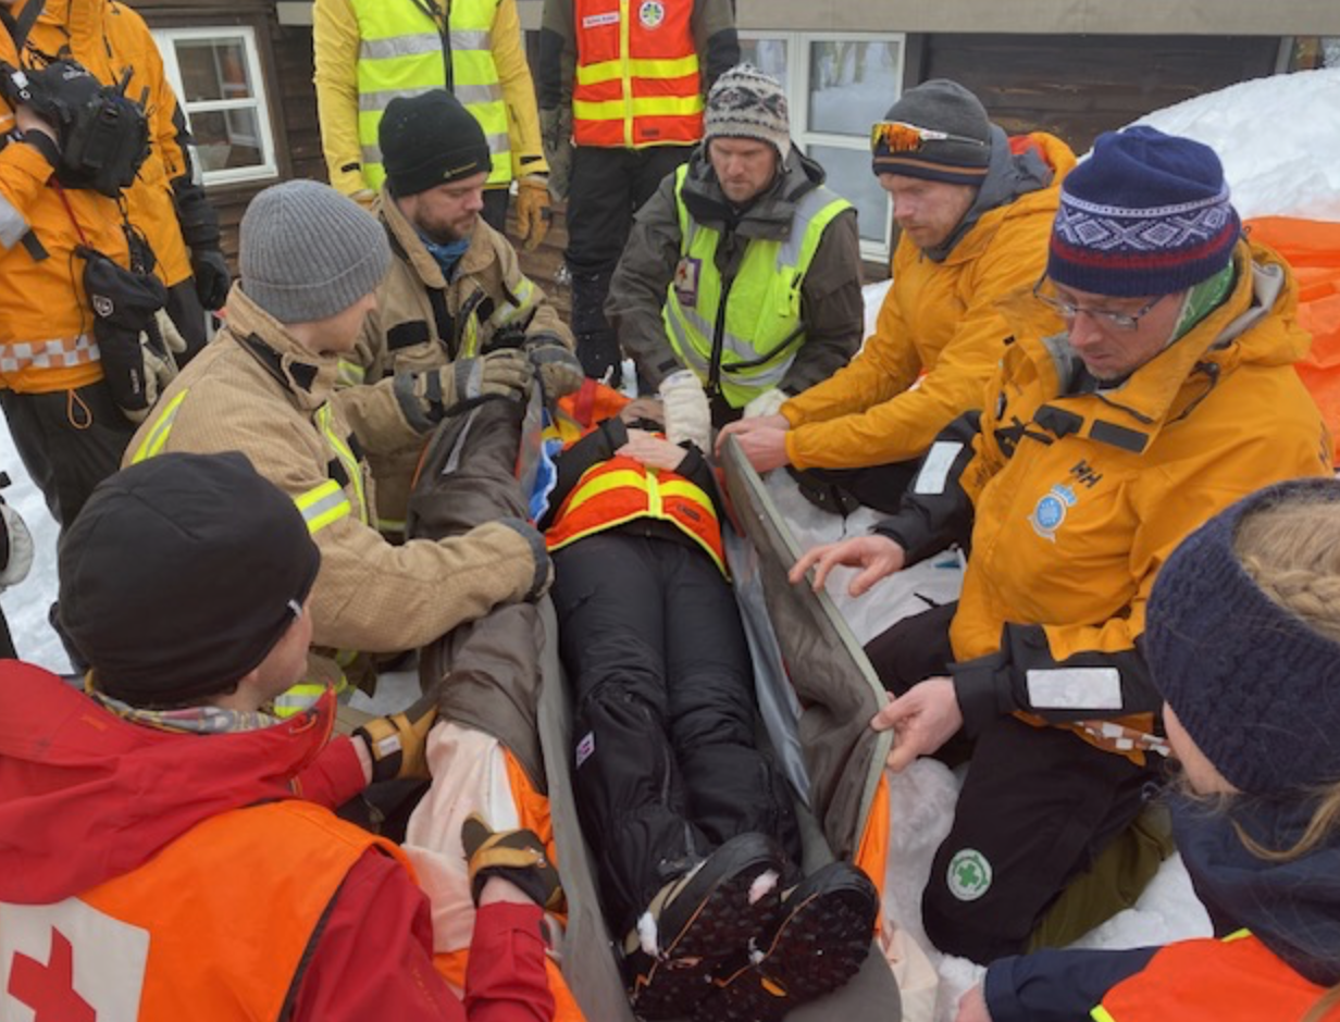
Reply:
<svg viewBox="0 0 1340 1022"><path fill-rule="evenodd" d="M1340 643L1272 600L1233 549L1240 522L1282 501L1335 502L1340 481L1253 493L1159 571L1143 648L1154 683L1221 774L1249 794L1340 781Z"/></svg>

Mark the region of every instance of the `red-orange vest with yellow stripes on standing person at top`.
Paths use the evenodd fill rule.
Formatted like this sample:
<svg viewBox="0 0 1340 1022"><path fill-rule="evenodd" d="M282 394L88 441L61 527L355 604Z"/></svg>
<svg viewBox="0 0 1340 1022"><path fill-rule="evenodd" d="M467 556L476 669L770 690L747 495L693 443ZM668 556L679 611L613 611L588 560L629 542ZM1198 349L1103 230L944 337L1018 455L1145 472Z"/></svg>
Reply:
<svg viewBox="0 0 1340 1022"><path fill-rule="evenodd" d="M702 138L693 4L576 0L572 137L579 146L687 146Z"/></svg>

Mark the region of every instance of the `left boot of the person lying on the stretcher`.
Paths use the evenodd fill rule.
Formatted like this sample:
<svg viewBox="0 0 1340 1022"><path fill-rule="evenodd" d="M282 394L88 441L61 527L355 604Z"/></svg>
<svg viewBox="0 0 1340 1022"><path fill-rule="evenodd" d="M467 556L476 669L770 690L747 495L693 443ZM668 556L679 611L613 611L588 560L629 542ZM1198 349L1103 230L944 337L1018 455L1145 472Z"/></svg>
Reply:
<svg viewBox="0 0 1340 1022"><path fill-rule="evenodd" d="M783 856L764 834L726 841L670 881L624 940L628 1001L641 1018L679 1018L780 909Z"/></svg>

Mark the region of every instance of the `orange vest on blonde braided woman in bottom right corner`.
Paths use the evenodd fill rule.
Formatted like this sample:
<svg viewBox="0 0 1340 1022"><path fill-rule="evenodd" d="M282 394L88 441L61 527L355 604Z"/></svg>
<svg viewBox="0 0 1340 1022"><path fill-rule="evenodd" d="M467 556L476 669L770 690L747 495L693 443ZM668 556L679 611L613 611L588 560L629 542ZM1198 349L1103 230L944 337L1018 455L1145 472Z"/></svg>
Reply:
<svg viewBox="0 0 1340 1022"><path fill-rule="evenodd" d="M1297 1022L1325 993L1244 930L1160 948L1089 1014L1096 1022ZM1325 1018L1340 1021L1340 1007Z"/></svg>

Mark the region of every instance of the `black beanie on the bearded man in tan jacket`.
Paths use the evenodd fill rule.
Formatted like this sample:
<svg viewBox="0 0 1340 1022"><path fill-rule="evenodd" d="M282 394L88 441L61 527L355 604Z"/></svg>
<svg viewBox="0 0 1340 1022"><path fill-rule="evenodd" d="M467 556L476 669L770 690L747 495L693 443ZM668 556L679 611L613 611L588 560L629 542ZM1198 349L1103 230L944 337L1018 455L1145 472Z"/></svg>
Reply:
<svg viewBox="0 0 1340 1022"><path fill-rule="evenodd" d="M393 196L417 196L493 167L480 122L445 88L387 103L377 141Z"/></svg>

